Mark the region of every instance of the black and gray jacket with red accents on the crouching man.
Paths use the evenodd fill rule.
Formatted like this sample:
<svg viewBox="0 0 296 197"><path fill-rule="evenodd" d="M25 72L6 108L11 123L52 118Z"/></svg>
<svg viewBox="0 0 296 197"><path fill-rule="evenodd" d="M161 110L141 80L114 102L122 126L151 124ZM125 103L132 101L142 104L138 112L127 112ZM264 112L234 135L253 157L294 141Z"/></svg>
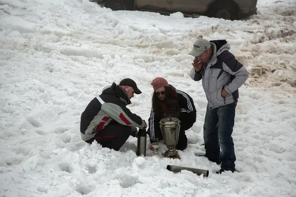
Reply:
<svg viewBox="0 0 296 197"><path fill-rule="evenodd" d="M105 88L102 94L90 101L81 114L81 138L87 141L93 138L96 132L103 130L108 124L115 122L131 128L145 127L145 121L133 114L126 105L130 103L123 89L113 83Z"/></svg>

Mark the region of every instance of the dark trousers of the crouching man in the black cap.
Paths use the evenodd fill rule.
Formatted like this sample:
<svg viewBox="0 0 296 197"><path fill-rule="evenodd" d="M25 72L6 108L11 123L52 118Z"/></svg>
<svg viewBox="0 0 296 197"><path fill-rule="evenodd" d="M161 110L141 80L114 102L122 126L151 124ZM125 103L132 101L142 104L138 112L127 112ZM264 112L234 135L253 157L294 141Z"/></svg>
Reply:
<svg viewBox="0 0 296 197"><path fill-rule="evenodd" d="M92 143L96 140L102 147L118 151L131 135L131 127L120 125L118 123L107 125L103 130L98 131L94 138L87 140Z"/></svg>

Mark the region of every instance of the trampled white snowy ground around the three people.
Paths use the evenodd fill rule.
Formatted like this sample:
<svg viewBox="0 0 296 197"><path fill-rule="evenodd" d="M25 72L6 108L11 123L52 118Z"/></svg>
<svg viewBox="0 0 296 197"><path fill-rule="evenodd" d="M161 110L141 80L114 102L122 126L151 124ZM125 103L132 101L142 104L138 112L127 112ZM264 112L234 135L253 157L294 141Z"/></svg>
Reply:
<svg viewBox="0 0 296 197"><path fill-rule="evenodd" d="M117 11L88 0L0 0L1 197L295 197L296 2L259 0L242 21ZM238 172L204 158L206 98L189 76L198 37L226 38L250 78L233 133ZM80 114L103 87L133 78L129 108L148 119L150 81L162 76L194 99L197 121L182 160L119 152L80 139ZM163 151L163 149L162 149ZM168 164L208 169L209 177Z"/></svg>

